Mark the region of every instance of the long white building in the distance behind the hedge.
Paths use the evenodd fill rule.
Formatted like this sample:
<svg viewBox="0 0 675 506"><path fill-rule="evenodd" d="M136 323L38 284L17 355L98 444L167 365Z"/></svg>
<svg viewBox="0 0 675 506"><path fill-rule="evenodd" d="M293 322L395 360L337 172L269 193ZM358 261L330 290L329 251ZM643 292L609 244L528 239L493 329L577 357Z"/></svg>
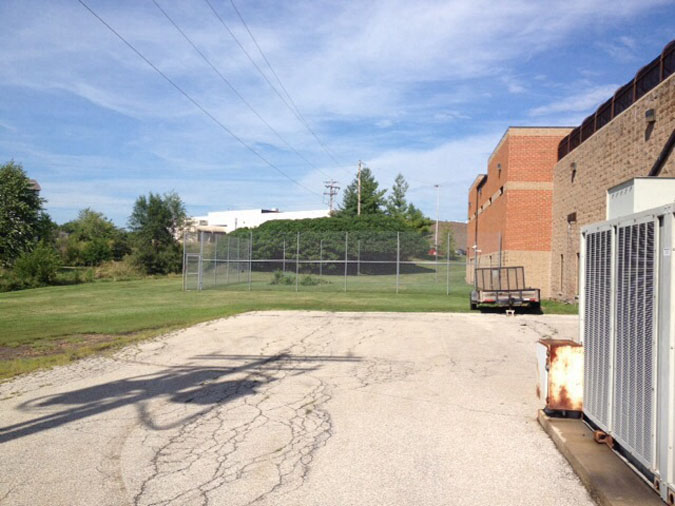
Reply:
<svg viewBox="0 0 675 506"><path fill-rule="evenodd" d="M279 209L245 209L241 211L214 211L206 216L195 216L189 220L192 230L210 232L233 232L238 228L255 228L271 220L304 220L307 218L327 218L328 209L315 211L287 211Z"/></svg>

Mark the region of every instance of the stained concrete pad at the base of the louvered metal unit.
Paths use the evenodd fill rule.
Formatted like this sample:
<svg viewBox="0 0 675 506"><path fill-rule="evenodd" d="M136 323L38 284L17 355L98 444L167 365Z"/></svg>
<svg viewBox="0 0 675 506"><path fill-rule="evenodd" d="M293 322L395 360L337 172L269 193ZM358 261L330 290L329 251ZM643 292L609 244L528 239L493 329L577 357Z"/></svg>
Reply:
<svg viewBox="0 0 675 506"><path fill-rule="evenodd" d="M601 506L663 506L659 495L607 445L598 444L581 420L551 418L539 423Z"/></svg>

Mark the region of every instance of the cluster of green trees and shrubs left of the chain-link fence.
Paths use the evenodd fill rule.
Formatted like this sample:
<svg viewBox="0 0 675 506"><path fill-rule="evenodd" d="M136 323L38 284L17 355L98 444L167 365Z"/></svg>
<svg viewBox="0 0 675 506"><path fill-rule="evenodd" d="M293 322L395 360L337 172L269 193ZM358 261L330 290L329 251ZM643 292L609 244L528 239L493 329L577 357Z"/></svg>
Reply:
<svg viewBox="0 0 675 506"><path fill-rule="evenodd" d="M176 238L187 214L176 193L138 197L128 229L89 208L57 225L44 204L20 164L0 166L0 291L83 280L81 270L64 271L64 266L118 262L138 275L180 272Z"/></svg>

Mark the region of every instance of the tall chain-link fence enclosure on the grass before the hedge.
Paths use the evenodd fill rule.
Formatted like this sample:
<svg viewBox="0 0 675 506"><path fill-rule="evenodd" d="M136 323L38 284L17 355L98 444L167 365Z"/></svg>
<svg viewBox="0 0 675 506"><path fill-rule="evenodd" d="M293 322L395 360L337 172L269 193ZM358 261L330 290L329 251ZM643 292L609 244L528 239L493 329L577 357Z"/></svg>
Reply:
<svg viewBox="0 0 675 506"><path fill-rule="evenodd" d="M183 237L183 289L450 294L465 261L450 235L407 232L198 231Z"/></svg>

